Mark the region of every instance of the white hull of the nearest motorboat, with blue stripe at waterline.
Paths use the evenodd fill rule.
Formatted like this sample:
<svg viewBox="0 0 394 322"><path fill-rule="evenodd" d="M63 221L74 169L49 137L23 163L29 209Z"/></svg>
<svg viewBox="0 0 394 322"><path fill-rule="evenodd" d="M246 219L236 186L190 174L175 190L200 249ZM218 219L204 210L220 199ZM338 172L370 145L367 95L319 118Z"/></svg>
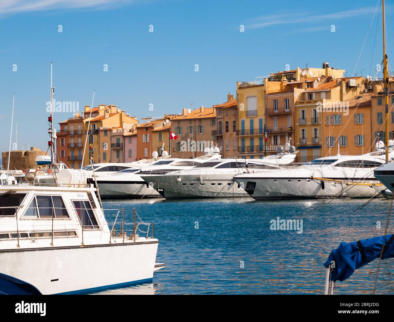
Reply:
<svg viewBox="0 0 394 322"><path fill-rule="evenodd" d="M1 250L0 272L32 284L42 294L85 293L151 281L158 240L117 242Z"/></svg>

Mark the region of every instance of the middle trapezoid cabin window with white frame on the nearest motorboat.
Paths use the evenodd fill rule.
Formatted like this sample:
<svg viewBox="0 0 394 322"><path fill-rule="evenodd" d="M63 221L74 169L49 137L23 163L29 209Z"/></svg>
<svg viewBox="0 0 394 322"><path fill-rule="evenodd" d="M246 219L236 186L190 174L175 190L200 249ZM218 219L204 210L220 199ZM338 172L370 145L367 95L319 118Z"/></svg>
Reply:
<svg viewBox="0 0 394 322"><path fill-rule="evenodd" d="M30 202L23 219L32 218L69 218L63 199L60 196L37 195Z"/></svg>

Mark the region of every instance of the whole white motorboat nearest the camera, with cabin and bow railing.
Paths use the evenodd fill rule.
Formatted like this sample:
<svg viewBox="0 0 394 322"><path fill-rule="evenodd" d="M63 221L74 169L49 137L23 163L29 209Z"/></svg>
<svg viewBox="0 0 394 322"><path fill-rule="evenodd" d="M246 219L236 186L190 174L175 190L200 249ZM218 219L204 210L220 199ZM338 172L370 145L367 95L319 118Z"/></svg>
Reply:
<svg viewBox="0 0 394 322"><path fill-rule="evenodd" d="M73 180L75 171L80 170L67 170ZM79 187L84 180L82 176ZM117 220L110 228L95 188L59 181L53 187L0 186L0 273L30 283L42 294L151 281L164 266L155 264L159 242L153 238L153 224L143 223L144 237L127 236L123 211L114 213ZM116 225L121 234L113 236ZM136 226L131 228L136 232Z"/></svg>

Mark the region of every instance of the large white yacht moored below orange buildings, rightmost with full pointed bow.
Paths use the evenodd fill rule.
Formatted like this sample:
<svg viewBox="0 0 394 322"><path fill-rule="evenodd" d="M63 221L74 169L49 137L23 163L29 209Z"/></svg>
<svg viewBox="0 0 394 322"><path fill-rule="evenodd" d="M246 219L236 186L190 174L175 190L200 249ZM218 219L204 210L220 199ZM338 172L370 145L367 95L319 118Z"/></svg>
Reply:
<svg viewBox="0 0 394 322"><path fill-rule="evenodd" d="M344 183L378 183L374 169L384 158L380 150L360 156L327 156L290 169L244 173L234 180L256 200L348 197Z"/></svg>

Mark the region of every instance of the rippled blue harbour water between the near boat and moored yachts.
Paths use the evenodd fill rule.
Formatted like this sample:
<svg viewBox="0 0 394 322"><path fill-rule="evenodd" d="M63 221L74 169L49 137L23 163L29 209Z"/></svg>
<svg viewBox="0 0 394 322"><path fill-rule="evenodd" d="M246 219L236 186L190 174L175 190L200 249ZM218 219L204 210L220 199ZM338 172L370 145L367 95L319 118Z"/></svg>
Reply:
<svg viewBox="0 0 394 322"><path fill-rule="evenodd" d="M270 220L295 219L322 201L104 201L104 208L125 207L126 222L136 208L143 221L155 223L156 262L166 267L155 272L151 284L99 294L322 294L323 263L333 248L384 234L390 201L375 200L353 212L367 200L330 202L303 219L302 234L270 230ZM113 214L106 217L113 222ZM338 282L335 293L371 294L377 263ZM377 293L394 293L393 259L382 261Z"/></svg>

